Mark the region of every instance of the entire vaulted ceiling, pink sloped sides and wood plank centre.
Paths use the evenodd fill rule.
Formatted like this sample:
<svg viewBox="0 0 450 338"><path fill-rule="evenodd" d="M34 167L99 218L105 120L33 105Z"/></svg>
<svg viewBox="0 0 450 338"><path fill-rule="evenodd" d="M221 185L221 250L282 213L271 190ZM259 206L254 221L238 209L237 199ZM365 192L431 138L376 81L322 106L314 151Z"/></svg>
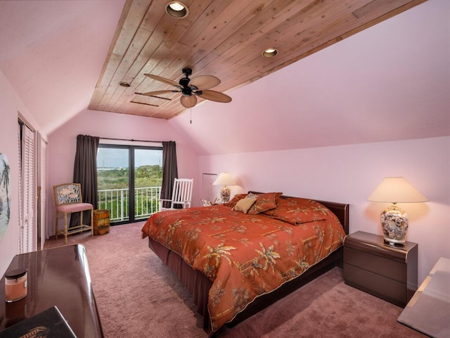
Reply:
<svg viewBox="0 0 450 338"><path fill-rule="evenodd" d="M1 73L44 134L89 107L169 118L199 155L450 135L448 0L186 0L179 20L167 2L0 0ZM178 81L186 65L233 101L134 94L171 87L144 73Z"/></svg>

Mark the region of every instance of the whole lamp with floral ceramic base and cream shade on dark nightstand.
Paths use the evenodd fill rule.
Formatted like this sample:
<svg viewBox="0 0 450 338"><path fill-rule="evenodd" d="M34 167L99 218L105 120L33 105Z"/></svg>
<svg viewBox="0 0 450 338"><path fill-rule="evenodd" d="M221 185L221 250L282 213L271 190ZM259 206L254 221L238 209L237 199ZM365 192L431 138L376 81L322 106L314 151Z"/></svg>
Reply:
<svg viewBox="0 0 450 338"><path fill-rule="evenodd" d="M384 239L391 245L404 245L409 219L408 214L402 211L397 203L427 202L428 199L403 177L385 177L368 197L368 201L392 203L380 215Z"/></svg>

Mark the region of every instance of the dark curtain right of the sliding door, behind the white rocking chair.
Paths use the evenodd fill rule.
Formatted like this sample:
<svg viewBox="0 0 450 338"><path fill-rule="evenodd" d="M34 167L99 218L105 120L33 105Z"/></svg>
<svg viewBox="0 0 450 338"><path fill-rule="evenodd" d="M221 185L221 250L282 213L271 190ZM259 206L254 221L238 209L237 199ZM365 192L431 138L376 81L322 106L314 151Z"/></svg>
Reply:
<svg viewBox="0 0 450 338"><path fill-rule="evenodd" d="M176 178L178 178L178 166L176 165L176 144L174 141L162 142L161 199L172 199L172 189L174 189L174 180ZM163 207L170 207L168 202L163 203Z"/></svg>

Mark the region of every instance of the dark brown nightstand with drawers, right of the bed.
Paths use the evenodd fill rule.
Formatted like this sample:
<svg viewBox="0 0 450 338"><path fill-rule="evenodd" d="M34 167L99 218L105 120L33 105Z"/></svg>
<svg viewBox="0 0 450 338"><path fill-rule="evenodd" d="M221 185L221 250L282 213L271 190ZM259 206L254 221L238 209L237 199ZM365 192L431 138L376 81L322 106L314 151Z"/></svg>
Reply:
<svg viewBox="0 0 450 338"><path fill-rule="evenodd" d="M417 289L418 244L385 244L383 236L354 232L344 241L344 281L404 307Z"/></svg>

